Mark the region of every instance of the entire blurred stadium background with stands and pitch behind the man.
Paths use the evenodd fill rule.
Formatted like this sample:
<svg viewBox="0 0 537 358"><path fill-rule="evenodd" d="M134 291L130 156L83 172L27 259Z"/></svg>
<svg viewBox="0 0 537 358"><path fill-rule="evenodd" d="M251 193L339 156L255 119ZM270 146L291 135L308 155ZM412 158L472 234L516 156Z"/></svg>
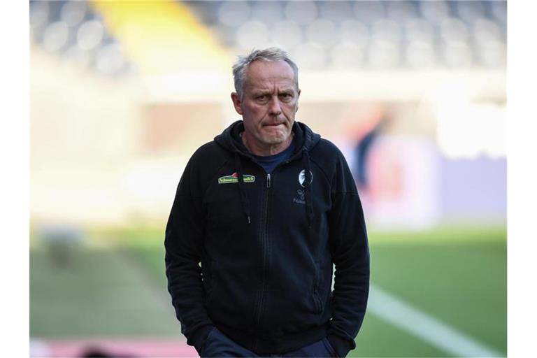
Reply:
<svg viewBox="0 0 537 358"><path fill-rule="evenodd" d="M278 45L348 159L370 308L352 357L506 355L506 1L30 1L32 357L186 357L164 226Z"/></svg>

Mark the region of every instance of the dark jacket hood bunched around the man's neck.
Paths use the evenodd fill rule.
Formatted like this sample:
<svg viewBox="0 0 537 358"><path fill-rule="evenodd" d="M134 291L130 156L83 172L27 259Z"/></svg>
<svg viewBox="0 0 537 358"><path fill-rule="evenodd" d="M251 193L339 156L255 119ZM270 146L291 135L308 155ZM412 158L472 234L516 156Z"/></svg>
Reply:
<svg viewBox="0 0 537 358"><path fill-rule="evenodd" d="M320 134L313 133L310 127L301 122L295 121L292 130L295 141L295 150L293 154L303 152L303 150L310 152L321 139ZM229 152L238 152L242 155L250 156L251 153L248 152L239 136L242 131L244 131L243 121L238 120L233 122L229 127L224 129L221 134L215 136L215 142L225 150L229 150Z"/></svg>

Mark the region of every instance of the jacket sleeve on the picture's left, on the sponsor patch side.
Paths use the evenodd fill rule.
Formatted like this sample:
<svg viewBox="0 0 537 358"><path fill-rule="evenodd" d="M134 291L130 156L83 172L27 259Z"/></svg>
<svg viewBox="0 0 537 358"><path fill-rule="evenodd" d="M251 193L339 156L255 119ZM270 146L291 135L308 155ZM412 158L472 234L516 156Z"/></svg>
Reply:
<svg viewBox="0 0 537 358"><path fill-rule="evenodd" d="M201 354L213 322L203 306L205 291L201 280L203 250L203 208L201 195L193 190L192 159L179 182L171 208L164 247L166 277L181 332L187 344ZM197 194L197 195L196 195Z"/></svg>

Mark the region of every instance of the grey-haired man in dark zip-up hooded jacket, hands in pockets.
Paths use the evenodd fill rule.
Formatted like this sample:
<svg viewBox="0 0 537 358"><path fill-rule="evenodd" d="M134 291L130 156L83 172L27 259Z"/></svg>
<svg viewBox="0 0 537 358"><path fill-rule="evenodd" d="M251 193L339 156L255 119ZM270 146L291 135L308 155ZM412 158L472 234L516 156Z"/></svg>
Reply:
<svg viewBox="0 0 537 358"><path fill-rule="evenodd" d="M202 357L345 357L369 287L355 182L341 152L294 121L286 52L255 50L233 73L243 120L192 155L166 227L182 333Z"/></svg>

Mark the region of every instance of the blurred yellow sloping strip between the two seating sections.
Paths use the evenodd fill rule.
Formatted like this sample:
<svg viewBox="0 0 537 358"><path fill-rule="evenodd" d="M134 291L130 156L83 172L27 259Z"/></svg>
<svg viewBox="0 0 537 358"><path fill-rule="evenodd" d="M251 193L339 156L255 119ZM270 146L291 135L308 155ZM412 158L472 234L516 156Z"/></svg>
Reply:
<svg viewBox="0 0 537 358"><path fill-rule="evenodd" d="M227 71L231 56L177 1L92 1L143 76Z"/></svg>

